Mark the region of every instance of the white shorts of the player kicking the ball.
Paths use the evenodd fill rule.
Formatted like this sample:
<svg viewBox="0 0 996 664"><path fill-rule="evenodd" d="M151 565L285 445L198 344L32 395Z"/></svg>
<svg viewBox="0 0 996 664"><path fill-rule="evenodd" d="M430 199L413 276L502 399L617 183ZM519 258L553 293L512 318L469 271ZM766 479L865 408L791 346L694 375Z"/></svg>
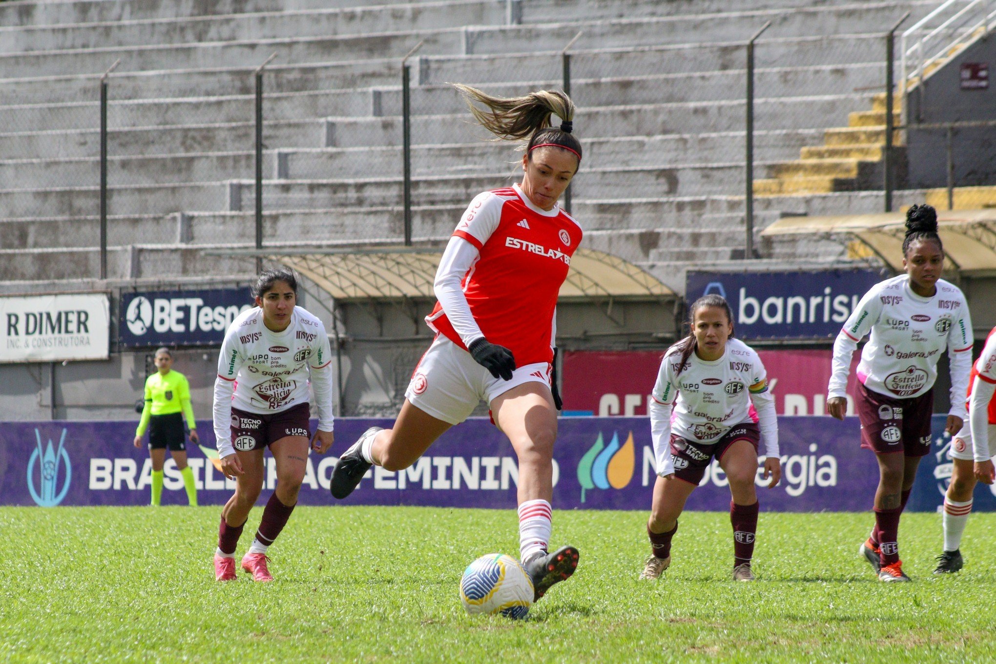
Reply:
<svg viewBox="0 0 996 664"><path fill-rule="evenodd" d="M516 368L511 380L495 378L469 352L439 334L415 366L404 397L436 419L459 424L480 401L490 404L513 387L527 382L549 387L552 369L549 362L536 362Z"/></svg>

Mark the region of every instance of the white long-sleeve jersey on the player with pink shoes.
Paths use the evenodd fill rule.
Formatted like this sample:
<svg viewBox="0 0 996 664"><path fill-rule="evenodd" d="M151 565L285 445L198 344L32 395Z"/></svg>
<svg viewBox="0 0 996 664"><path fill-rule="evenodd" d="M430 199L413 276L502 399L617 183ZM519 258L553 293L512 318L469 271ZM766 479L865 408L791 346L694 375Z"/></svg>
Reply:
<svg viewBox="0 0 996 664"><path fill-rule="evenodd" d="M214 380L214 435L218 455L234 454L232 406L269 414L308 403L311 381L318 405L318 428L332 431L332 351L325 326L295 307L284 332L263 324L258 307L243 312L225 332Z"/></svg>

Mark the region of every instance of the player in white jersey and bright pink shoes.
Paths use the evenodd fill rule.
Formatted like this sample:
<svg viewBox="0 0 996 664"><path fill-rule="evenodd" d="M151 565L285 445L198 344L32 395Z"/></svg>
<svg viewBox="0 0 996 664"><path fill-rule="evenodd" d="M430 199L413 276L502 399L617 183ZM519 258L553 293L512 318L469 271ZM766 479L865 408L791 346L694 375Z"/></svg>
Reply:
<svg viewBox="0 0 996 664"><path fill-rule="evenodd" d="M308 468L309 382L319 416L312 449L325 454L333 442L332 358L325 327L295 306L298 283L290 270L261 274L253 296L256 307L225 333L214 381L218 457L225 477L235 480L235 495L221 511L214 553L215 577L225 581L235 578L235 548L263 489L267 447L277 465L277 486L242 568L254 580L273 580L267 549L290 519Z"/></svg>

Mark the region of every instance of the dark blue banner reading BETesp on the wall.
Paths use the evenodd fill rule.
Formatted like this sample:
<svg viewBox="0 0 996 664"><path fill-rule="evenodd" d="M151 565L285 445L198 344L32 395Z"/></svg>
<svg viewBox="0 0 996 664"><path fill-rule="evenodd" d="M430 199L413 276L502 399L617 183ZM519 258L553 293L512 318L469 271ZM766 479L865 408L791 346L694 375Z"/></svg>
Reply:
<svg viewBox="0 0 996 664"><path fill-rule="evenodd" d="M248 288L123 293L118 335L125 346L220 344L252 306Z"/></svg>

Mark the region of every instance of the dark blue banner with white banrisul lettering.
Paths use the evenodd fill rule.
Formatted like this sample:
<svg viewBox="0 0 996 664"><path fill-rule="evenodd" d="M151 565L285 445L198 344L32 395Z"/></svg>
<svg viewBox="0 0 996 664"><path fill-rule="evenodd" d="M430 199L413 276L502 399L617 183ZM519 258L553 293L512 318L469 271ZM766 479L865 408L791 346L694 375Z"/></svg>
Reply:
<svg viewBox="0 0 996 664"><path fill-rule="evenodd" d="M685 298L689 304L711 293L726 298L740 338L833 338L881 280L871 270L689 272Z"/></svg>

